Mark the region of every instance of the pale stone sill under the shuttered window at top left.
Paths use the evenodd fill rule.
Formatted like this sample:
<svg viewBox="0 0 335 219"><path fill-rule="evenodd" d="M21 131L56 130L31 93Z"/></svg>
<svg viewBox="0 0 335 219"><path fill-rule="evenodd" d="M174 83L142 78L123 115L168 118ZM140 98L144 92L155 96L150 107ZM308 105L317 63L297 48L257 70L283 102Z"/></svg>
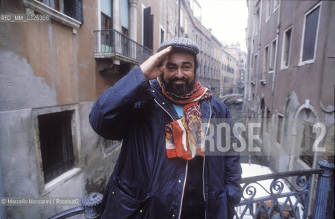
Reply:
<svg viewBox="0 0 335 219"><path fill-rule="evenodd" d="M71 18L70 16L67 16L66 14L63 14L61 12L58 12L57 10L54 10L53 8L50 8L49 6L36 1L36 0L24 0L24 5L26 8L27 14L34 13L31 10L34 10L36 12L39 12L41 14L50 14L51 19L58 21L59 23L62 23L68 27L71 28L78 28L82 24L81 22ZM29 10L29 9L31 10Z"/></svg>

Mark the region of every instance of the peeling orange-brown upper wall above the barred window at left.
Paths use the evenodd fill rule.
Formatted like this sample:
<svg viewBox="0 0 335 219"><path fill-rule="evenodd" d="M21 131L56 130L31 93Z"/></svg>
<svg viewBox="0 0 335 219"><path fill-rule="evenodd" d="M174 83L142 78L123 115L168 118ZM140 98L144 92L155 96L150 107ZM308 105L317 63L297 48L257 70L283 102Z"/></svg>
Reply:
<svg viewBox="0 0 335 219"><path fill-rule="evenodd" d="M2 12L24 13L22 2L15 6L1 4ZM1 81L7 83L1 86L1 97L7 101L1 110L94 100L95 84L91 82L95 79L92 58L93 29L97 23L95 6L94 3L84 5L84 24L77 29L77 34L53 20L51 23L1 23L0 55L4 67L1 77L5 79ZM27 79L32 76L35 79ZM23 101L27 94L29 101Z"/></svg>

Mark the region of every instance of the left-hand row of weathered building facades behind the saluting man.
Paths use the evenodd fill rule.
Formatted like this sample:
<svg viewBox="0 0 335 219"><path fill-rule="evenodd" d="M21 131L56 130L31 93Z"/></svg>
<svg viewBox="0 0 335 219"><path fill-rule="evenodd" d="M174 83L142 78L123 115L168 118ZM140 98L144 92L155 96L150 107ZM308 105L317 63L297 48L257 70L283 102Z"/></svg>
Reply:
<svg viewBox="0 0 335 219"><path fill-rule="evenodd" d="M219 96L225 51L201 25L197 1L5 0L1 14L47 22L0 23L0 188L6 197L103 192L121 141L88 123L94 101L178 35L200 48L199 80ZM199 14L200 11L200 14ZM47 218L69 205L7 206L10 218ZM1 210L2 211L2 210Z"/></svg>

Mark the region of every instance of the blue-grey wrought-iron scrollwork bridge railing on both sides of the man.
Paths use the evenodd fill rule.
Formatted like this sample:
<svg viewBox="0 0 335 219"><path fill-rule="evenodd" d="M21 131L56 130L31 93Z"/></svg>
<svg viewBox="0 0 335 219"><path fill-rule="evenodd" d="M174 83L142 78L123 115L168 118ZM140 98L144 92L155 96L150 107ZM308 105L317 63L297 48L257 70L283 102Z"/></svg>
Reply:
<svg viewBox="0 0 335 219"><path fill-rule="evenodd" d="M280 218L284 218L283 211L288 207L295 218L330 219L334 218L334 164L327 161L318 162L320 168L278 172L242 179L243 197L234 208L236 219L242 218L272 218L277 211ZM319 175L317 191L313 200L312 215L308 216L312 175ZM295 183L292 183L295 179ZM268 183L264 183L268 181ZM266 186L269 185L269 186ZM289 188L289 190L285 190ZM258 197L263 190L266 196ZM328 197L328 194L330 195ZM62 211L49 219L70 218L77 214L84 214L85 218L99 218L102 194L90 193L82 198L82 206ZM266 201L271 205L266 207Z"/></svg>

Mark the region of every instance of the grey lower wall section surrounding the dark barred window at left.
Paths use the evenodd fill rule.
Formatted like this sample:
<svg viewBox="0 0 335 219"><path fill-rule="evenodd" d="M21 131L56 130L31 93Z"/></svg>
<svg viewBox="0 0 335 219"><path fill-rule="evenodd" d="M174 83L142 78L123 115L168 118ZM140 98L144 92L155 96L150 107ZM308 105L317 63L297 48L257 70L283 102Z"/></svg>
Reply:
<svg viewBox="0 0 335 219"><path fill-rule="evenodd" d="M0 160L6 197L82 198L87 192L103 192L119 155L119 147L109 153L103 151L102 139L88 123L92 104L83 102L74 106L77 109L77 118L73 121L77 155L75 169L69 170L74 173L69 175L68 172L69 176L65 174L54 179L54 185L45 184L40 179L43 175L38 162L36 116L48 109L0 112L0 123L6 124L0 129ZM69 205L13 206L6 207L6 211L11 218L36 218L36 214L38 218L47 218L69 208Z"/></svg>

